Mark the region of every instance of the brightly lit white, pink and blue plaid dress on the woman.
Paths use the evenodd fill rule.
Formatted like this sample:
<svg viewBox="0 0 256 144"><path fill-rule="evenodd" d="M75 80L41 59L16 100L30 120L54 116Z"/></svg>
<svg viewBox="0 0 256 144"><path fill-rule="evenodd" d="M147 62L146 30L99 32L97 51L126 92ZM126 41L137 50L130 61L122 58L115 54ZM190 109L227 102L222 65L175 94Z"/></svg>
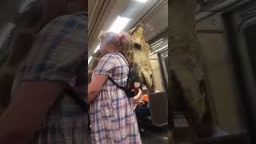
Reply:
<svg viewBox="0 0 256 144"><path fill-rule="evenodd" d="M108 75L118 85L125 86L129 68L118 54L104 55L94 75ZM90 103L90 126L93 143L142 143L131 102L123 90L107 80L93 102Z"/></svg>

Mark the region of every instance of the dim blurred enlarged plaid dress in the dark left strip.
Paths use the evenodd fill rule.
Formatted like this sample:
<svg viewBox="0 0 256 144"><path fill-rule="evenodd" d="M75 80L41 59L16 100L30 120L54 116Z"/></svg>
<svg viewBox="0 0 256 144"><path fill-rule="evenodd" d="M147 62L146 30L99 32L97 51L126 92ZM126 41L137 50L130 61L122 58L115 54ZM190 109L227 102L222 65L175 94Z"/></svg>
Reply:
<svg viewBox="0 0 256 144"><path fill-rule="evenodd" d="M87 99L86 30L86 14L63 15L44 26L21 66L12 95L18 92L21 82L47 80L62 82ZM32 143L87 143L87 121L88 116L82 106L70 95L62 94L46 115Z"/></svg>

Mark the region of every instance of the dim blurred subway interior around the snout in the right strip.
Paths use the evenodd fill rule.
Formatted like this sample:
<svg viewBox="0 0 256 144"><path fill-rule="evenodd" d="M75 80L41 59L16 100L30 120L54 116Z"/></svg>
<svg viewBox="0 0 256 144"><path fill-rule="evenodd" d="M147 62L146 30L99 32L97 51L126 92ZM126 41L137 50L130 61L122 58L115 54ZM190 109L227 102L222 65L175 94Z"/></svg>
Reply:
<svg viewBox="0 0 256 144"><path fill-rule="evenodd" d="M171 2L169 6L170 10ZM254 1L198 1L195 29L210 86L208 101L215 130L210 137L194 140L186 118L176 114L178 106L173 106L176 142L255 143L255 16ZM175 101L175 95L170 99Z"/></svg>

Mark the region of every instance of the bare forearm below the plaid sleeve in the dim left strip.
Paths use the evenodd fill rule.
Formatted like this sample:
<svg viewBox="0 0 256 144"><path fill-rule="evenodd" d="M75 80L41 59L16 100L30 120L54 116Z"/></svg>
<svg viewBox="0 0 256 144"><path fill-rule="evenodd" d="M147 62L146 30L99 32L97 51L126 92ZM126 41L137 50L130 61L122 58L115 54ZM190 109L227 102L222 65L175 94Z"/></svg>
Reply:
<svg viewBox="0 0 256 144"><path fill-rule="evenodd" d="M30 142L63 89L61 82L22 82L14 101L0 117L0 143Z"/></svg>

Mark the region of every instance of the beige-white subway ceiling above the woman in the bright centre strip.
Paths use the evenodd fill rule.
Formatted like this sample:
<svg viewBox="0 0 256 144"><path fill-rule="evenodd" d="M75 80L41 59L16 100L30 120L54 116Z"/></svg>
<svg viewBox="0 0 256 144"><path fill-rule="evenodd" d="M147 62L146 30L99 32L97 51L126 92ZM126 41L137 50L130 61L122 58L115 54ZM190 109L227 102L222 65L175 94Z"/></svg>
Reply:
<svg viewBox="0 0 256 144"><path fill-rule="evenodd" d="M136 26L138 22L142 22L145 29L144 35L148 41L166 30L168 1L148 0L146 3L139 3L134 0L89 0L89 57L98 45L100 31L107 30L118 14L131 18L125 31Z"/></svg>

